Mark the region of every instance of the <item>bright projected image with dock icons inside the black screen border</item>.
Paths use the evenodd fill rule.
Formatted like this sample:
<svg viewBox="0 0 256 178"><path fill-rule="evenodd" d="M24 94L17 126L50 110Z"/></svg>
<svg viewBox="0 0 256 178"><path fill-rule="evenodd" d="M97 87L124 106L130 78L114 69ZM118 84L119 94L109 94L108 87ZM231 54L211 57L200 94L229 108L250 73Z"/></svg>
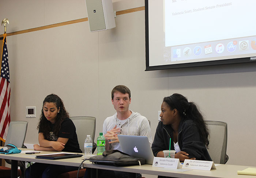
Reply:
<svg viewBox="0 0 256 178"><path fill-rule="evenodd" d="M252 0L148 0L149 67L255 57L255 7Z"/></svg>

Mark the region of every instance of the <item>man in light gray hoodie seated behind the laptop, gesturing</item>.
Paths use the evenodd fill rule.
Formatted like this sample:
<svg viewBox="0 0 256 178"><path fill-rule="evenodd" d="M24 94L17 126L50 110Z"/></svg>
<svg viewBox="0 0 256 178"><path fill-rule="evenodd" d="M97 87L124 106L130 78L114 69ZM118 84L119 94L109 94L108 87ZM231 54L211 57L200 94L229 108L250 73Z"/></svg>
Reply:
<svg viewBox="0 0 256 178"><path fill-rule="evenodd" d="M150 125L146 117L129 110L131 91L128 87L118 85L111 92L112 104L116 113L103 123L103 135L106 139L106 150L121 150L117 135L147 136L152 144Z"/></svg>

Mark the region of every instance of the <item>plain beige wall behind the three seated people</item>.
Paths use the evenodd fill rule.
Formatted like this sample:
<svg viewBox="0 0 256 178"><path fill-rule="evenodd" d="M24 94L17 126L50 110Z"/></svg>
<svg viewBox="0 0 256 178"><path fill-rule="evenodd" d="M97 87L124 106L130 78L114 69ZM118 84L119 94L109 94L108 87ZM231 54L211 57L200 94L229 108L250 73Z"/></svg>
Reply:
<svg viewBox="0 0 256 178"><path fill-rule="evenodd" d="M3 1L7 33L87 17L84 0ZM114 10L144 0L113 0ZM256 64L145 72L144 11L116 17L116 28L90 33L88 22L7 37L11 73L11 120L29 121L25 143L38 143L42 101L59 95L71 116L97 118L96 136L114 114L110 92L118 84L132 92L130 108L157 127L162 98L181 93L196 102L206 120L228 123L228 164L256 166ZM25 107L36 106L37 118Z"/></svg>

